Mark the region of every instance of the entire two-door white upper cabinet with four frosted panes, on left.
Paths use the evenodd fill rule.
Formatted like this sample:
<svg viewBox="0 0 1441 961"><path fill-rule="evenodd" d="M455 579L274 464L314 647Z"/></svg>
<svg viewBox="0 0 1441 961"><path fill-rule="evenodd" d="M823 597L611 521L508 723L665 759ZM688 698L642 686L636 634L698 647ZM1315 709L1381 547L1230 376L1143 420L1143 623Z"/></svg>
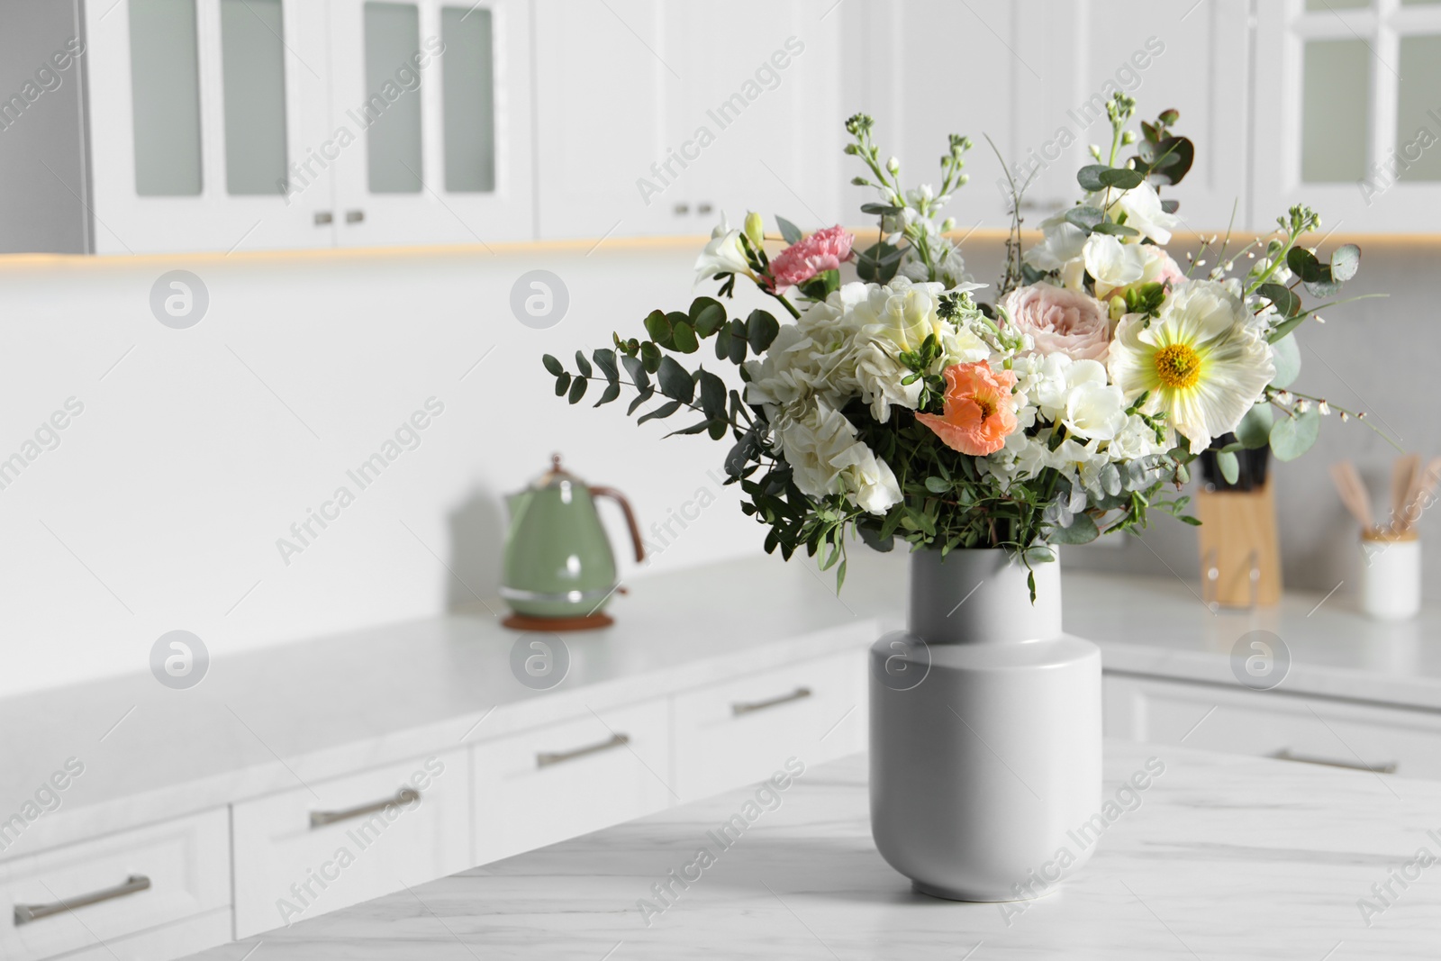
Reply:
<svg viewBox="0 0 1441 961"><path fill-rule="evenodd" d="M532 236L520 0L85 12L94 249Z"/></svg>

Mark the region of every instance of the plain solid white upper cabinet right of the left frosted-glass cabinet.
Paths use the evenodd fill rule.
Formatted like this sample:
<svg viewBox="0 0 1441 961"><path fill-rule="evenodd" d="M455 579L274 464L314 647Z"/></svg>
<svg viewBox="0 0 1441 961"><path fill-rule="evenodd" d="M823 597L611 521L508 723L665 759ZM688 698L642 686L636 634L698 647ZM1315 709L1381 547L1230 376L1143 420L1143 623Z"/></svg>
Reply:
<svg viewBox="0 0 1441 961"><path fill-rule="evenodd" d="M746 210L771 231L777 213L842 219L831 6L537 0L540 236L706 233Z"/></svg>

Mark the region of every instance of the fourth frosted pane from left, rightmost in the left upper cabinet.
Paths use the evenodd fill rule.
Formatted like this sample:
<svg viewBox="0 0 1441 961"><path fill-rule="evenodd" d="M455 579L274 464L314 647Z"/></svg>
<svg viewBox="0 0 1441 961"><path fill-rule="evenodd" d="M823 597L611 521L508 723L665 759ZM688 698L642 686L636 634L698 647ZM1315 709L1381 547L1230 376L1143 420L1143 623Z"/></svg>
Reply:
<svg viewBox="0 0 1441 961"><path fill-rule="evenodd" d="M496 189L496 69L490 10L442 7L445 189Z"/></svg>

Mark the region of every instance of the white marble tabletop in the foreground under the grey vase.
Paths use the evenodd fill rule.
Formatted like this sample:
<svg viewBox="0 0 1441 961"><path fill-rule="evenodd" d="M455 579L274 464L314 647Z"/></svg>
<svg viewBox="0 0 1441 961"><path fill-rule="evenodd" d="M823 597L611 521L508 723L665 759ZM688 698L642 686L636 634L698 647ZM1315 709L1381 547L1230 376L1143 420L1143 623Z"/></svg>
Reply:
<svg viewBox="0 0 1441 961"><path fill-rule="evenodd" d="M1434 958L1441 784L1185 748L1105 745L1105 794L1164 765L1095 854L1035 902L911 892L870 840L865 756L807 769L728 847L754 788L208 951L208 961L546 958ZM1153 762L1154 765L1156 762ZM1153 766L1154 769L1154 766ZM1428 833L1428 831L1435 831ZM659 915L651 886L715 863ZM1038 866L1042 867L1042 866ZM692 872L695 876L695 872ZM1385 896L1378 900L1372 885ZM1360 899L1375 912L1363 916ZM1369 922L1369 925L1368 925ZM254 955L251 954L254 952Z"/></svg>

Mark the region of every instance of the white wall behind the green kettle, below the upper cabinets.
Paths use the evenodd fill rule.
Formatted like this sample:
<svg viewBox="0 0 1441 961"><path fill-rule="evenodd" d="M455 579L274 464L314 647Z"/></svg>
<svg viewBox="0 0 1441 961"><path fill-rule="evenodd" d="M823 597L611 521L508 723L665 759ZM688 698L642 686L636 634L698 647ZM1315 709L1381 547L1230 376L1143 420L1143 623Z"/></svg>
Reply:
<svg viewBox="0 0 1441 961"><path fill-rule="evenodd" d="M68 398L84 403L0 490L0 696L147 670L170 630L223 657L471 599L431 550L493 596L500 497L552 451L627 493L647 527L702 486L719 493L706 471L722 444L661 444L680 418L635 428L620 405L569 408L540 366L687 303L697 246L0 265L0 460ZM174 268L210 295L189 330L150 310ZM545 331L509 310L535 268L571 294ZM346 470L431 396L444 414L419 447L360 490ZM356 501L285 565L277 539L342 484ZM733 488L680 533L648 569L761 542Z"/></svg>

